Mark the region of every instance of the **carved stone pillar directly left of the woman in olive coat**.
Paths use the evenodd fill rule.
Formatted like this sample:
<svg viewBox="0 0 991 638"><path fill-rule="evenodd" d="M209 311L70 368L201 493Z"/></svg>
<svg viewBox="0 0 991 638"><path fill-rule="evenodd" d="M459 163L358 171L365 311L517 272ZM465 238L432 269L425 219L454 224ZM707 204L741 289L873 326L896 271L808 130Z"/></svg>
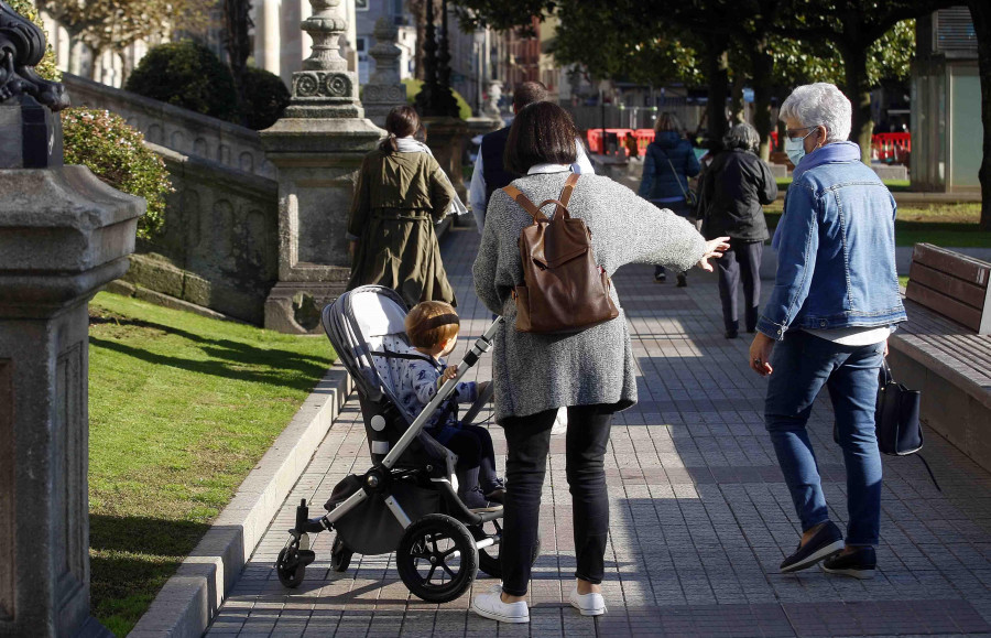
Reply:
<svg viewBox="0 0 991 638"><path fill-rule="evenodd" d="M285 116L262 131L279 170L279 282L265 301L265 327L318 333L319 311L350 275L347 231L364 155L384 136L364 118L358 74L340 55L342 0L309 0L303 22L313 54L293 74Z"/></svg>

